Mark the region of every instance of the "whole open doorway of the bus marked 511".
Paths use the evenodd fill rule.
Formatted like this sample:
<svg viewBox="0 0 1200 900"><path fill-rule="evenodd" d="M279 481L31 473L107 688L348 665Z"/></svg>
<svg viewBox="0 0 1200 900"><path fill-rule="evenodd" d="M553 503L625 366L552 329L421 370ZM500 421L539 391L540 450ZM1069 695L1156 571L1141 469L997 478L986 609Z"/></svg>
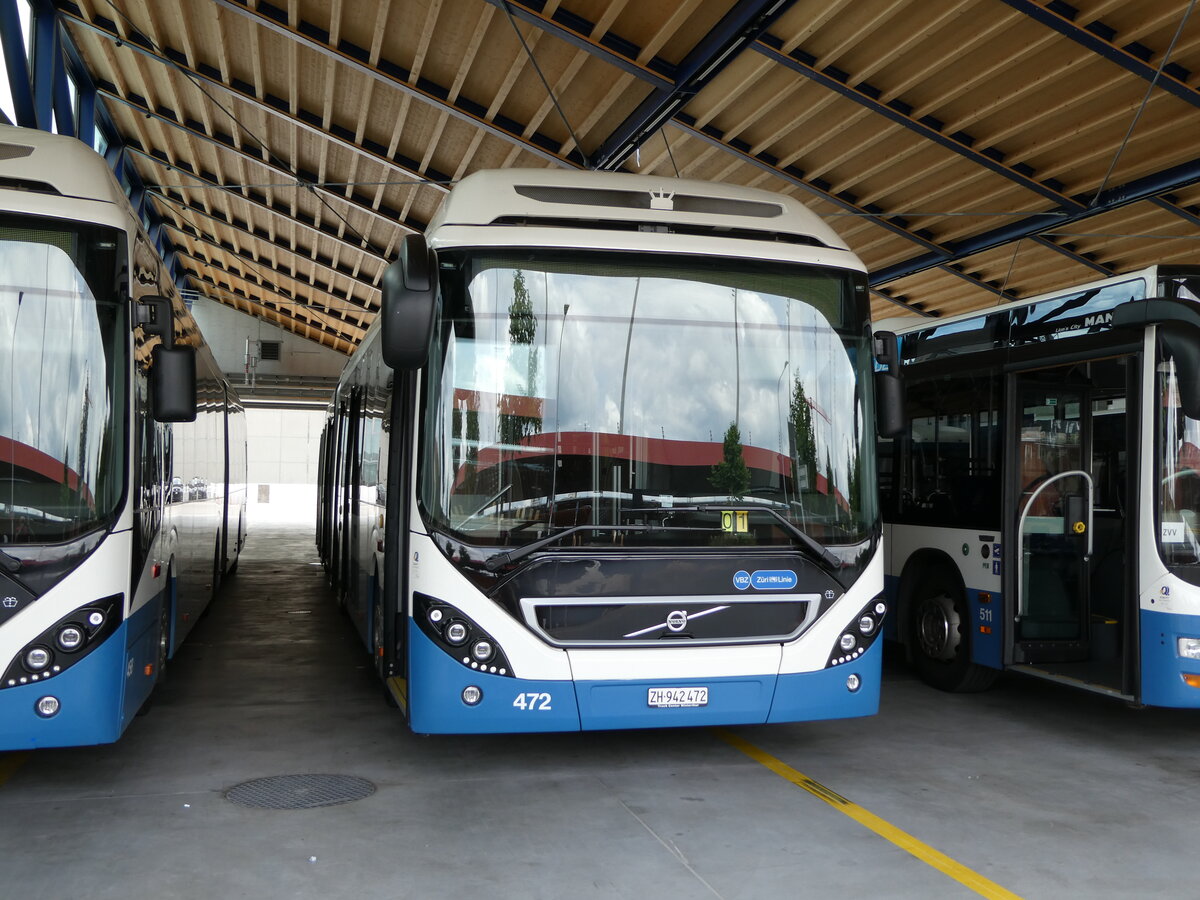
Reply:
<svg viewBox="0 0 1200 900"><path fill-rule="evenodd" d="M1009 376L1012 664L1132 696L1136 360Z"/></svg>

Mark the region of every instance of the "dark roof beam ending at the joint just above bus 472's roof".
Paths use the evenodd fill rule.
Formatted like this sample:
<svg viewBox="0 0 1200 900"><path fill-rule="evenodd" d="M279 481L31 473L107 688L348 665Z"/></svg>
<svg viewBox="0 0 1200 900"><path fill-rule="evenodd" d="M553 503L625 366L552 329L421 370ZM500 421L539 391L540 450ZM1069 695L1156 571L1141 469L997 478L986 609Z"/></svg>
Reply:
<svg viewBox="0 0 1200 900"><path fill-rule="evenodd" d="M295 26L289 24L288 13L266 0L259 0L254 8L250 8L241 0L211 0L222 10L244 16L259 26L274 31L277 35L293 41L301 47L306 47L314 53L332 59L361 74L365 74L380 84L403 91L409 96L428 106L449 113L455 119L473 125L498 138L516 144L523 150L540 156L547 162L553 162L563 167L581 167L583 158L577 150L572 150L570 156L563 156L562 142L534 131L528 138L523 136L526 126L504 115L494 119L487 118L487 106L464 98L461 94L451 102L449 89L420 77L412 80L412 72L401 65L380 59L374 66L368 65L370 52L366 48L342 40L334 46L329 43L330 35L325 29L313 23L299 20ZM131 40L131 38L126 38Z"/></svg>

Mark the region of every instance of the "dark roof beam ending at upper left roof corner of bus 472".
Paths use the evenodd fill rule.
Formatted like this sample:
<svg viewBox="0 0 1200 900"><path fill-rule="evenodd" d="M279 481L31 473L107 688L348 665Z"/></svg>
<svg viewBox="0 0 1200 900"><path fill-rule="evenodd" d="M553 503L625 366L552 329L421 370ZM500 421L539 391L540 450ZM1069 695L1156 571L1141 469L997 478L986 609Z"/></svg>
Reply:
<svg viewBox="0 0 1200 900"><path fill-rule="evenodd" d="M349 150L350 152L355 154L361 154L362 156L366 156L367 158L373 160L374 162L388 166L390 168L400 169L406 175L410 176L414 181L420 181L422 186L432 187L442 193L446 193L450 190L449 188L450 175L443 172L426 167L425 172L422 173L420 172L421 164L415 160L410 160L403 154L395 154L389 156L388 148L383 146L382 144L376 144L374 142L371 140L364 140L360 144L354 140L354 131L347 128L343 125L331 122L330 128L326 131L322 126L322 116L317 115L316 113L308 109L298 108L296 113L293 115L289 109L290 104L282 97L276 97L272 94L266 94L265 97L259 97L254 89L254 85L247 84L246 82L241 82L239 79L234 79L234 83L229 84L221 79L220 71L217 71L212 66L200 62L197 64L196 67L192 67L188 64L187 56L186 54L184 54L182 50L176 50L172 47L163 47L162 52L158 53L152 48L150 48L149 46L140 46L131 40L122 37L120 34L116 32L115 30L116 26L112 25L112 23L109 23L112 28L100 24L100 22L107 22L107 19L97 22L88 22L86 19L79 16L77 8L72 11L73 8L74 7L62 5L60 12L64 22L78 25L79 28L86 29L92 34L100 35L101 37L113 41L114 43L120 42L121 46L130 47L137 53L140 53L143 56L146 56L148 59L152 59L158 62L162 62L163 65L170 66L172 68L176 68L190 78L194 78L198 82L209 84L214 88L226 91L230 96L235 97L242 103L246 103L250 107L253 107L254 109L258 109L263 113L268 113L278 119L282 119L283 121L295 125L302 131L308 132L310 134L314 134L322 138L323 140L328 140L331 144L343 148L344 150Z"/></svg>

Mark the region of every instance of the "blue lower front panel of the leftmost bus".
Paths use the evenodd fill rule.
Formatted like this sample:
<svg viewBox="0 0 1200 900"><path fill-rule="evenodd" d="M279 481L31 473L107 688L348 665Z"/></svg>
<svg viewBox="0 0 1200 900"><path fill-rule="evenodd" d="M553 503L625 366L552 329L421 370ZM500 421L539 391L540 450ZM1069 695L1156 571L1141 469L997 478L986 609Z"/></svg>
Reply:
<svg viewBox="0 0 1200 900"><path fill-rule="evenodd" d="M104 643L61 674L35 684L0 690L0 750L107 744L121 736L127 623ZM62 704L43 719L34 712L40 697Z"/></svg>

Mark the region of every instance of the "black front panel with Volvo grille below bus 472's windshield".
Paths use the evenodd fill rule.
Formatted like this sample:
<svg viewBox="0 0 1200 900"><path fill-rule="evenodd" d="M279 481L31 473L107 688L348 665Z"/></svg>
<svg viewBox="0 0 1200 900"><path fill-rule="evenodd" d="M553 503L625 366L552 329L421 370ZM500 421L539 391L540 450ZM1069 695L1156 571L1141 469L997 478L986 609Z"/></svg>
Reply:
<svg viewBox="0 0 1200 900"><path fill-rule="evenodd" d="M560 644L784 641L842 593L799 553L546 554L493 599Z"/></svg>

